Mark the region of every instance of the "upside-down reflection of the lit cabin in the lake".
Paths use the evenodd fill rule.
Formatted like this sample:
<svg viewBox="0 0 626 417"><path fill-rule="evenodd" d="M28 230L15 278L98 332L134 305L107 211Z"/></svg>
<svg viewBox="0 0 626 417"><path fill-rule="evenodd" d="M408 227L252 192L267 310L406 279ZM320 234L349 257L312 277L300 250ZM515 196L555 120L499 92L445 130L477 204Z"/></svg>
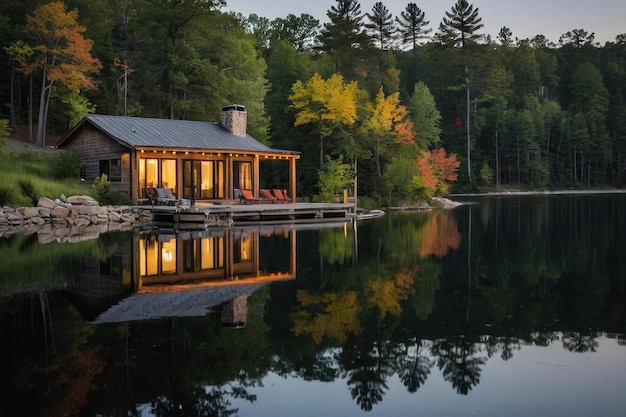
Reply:
<svg viewBox="0 0 626 417"><path fill-rule="evenodd" d="M132 246L131 295L94 323L221 311L225 326L242 327L254 291L296 276L295 229L159 230L134 234Z"/></svg>

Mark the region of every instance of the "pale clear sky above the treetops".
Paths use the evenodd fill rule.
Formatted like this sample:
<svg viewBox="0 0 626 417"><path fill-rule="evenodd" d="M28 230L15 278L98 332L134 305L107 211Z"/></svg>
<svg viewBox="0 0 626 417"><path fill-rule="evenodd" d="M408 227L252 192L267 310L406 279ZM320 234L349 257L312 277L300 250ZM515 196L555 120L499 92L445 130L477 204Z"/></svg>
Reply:
<svg viewBox="0 0 626 417"><path fill-rule="evenodd" d="M288 14L300 16L307 13L328 22L326 12L336 4L335 0L226 0L224 11L248 16L252 13L273 20ZM363 14L371 13L376 0L361 0ZM456 3L456 0L385 0L382 3L395 16L415 3L425 13L434 33L439 23ZM533 38L542 34L558 43L559 37L573 29L595 33L601 45L614 42L619 34L626 33L626 1L624 0L469 0L478 8L485 25L482 34L490 34L495 40L500 28L508 27L514 38Z"/></svg>

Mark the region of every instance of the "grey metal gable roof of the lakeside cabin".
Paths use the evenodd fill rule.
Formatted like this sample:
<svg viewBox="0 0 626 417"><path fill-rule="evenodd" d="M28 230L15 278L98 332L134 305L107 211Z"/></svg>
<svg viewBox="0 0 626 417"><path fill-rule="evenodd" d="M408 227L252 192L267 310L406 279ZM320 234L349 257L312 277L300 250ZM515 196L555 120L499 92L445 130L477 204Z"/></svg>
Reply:
<svg viewBox="0 0 626 417"><path fill-rule="evenodd" d="M299 154L297 151L272 149L252 136L234 135L219 123L190 120L89 114L70 131L62 142L83 123L93 126L131 147L162 147L237 152Z"/></svg>

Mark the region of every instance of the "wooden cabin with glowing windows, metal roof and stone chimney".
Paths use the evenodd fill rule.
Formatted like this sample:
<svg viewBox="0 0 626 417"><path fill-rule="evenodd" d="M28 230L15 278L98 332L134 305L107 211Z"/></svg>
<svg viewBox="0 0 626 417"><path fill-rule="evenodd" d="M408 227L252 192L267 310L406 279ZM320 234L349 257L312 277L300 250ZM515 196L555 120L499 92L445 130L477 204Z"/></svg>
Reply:
<svg viewBox="0 0 626 417"><path fill-rule="evenodd" d="M178 199L232 200L238 190L259 195L259 166L284 161L285 187L296 195L296 151L272 149L246 133L246 109L222 107L220 122L85 116L59 142L81 160L81 178L107 174L133 200L146 188L170 188Z"/></svg>

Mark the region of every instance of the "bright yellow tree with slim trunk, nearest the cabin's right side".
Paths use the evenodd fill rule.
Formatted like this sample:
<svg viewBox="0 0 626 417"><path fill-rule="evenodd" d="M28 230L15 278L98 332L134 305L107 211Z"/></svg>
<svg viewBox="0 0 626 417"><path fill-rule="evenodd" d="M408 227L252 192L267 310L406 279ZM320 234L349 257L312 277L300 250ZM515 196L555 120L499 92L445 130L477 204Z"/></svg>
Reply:
<svg viewBox="0 0 626 417"><path fill-rule="evenodd" d="M346 84L339 74L327 80L315 74L306 84L297 81L291 91L289 100L296 112L294 125L311 125L317 133L321 168L324 166L324 139L357 120L357 83Z"/></svg>

